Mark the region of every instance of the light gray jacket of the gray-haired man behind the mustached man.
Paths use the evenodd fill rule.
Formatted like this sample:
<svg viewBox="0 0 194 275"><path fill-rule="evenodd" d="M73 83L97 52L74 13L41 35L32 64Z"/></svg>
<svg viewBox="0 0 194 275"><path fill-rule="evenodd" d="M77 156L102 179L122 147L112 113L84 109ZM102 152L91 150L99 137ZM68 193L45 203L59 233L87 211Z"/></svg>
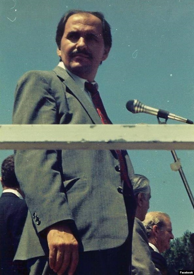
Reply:
<svg viewBox="0 0 194 275"><path fill-rule="evenodd" d="M135 218L132 241L132 274L133 275L161 275L151 259L148 240L144 225Z"/></svg>

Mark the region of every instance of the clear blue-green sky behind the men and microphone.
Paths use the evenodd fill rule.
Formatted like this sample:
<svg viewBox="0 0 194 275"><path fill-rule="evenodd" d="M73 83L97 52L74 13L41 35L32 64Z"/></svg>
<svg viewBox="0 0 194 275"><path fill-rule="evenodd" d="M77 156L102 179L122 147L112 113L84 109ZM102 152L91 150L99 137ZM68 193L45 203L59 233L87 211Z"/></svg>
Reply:
<svg viewBox="0 0 194 275"><path fill-rule="evenodd" d="M56 26L69 9L101 11L111 25L113 47L96 81L113 123L158 123L155 116L128 112L130 99L194 120L193 0L1 0L0 124L12 122L14 90L23 73L58 64ZM0 162L11 153L0 150ZM194 152L176 153L194 194ZM193 207L179 173L170 169L170 151L129 155L135 172L150 179L149 211L168 213L175 237L193 232Z"/></svg>

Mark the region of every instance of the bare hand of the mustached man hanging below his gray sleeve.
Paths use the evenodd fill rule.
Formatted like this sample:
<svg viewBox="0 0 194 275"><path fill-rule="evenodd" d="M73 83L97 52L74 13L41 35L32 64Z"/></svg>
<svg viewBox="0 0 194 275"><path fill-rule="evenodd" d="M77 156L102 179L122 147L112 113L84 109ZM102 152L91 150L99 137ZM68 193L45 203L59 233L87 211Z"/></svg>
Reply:
<svg viewBox="0 0 194 275"><path fill-rule="evenodd" d="M78 264L78 242L73 236L70 227L56 224L49 228L47 233L49 247L49 265L58 275L68 270L73 275Z"/></svg>

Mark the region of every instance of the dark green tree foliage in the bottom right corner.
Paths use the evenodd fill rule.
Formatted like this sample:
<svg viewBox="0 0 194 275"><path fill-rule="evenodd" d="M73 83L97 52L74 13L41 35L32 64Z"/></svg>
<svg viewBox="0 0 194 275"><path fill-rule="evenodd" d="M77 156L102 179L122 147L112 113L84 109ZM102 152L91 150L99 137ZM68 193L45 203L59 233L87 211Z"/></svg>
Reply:
<svg viewBox="0 0 194 275"><path fill-rule="evenodd" d="M191 232L184 232L183 236L175 238L170 248L163 253L167 260L170 275L177 275L178 270L194 269L194 248L190 241Z"/></svg>

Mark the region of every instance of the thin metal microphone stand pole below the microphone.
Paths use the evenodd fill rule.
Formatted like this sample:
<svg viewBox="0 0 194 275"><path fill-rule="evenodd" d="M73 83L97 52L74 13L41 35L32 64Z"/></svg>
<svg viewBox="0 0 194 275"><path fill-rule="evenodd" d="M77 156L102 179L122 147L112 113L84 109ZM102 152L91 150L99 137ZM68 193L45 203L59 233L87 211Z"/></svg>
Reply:
<svg viewBox="0 0 194 275"><path fill-rule="evenodd" d="M157 119L158 119L158 124L167 124L166 122L167 122L167 119L168 119L168 118L165 119L165 122L161 122L160 119L159 119L159 116L157 116ZM194 208L194 198L193 198L193 194L192 194L192 192L191 192L191 189L190 189L190 187L189 187L189 184L188 184L188 182L187 182L187 179L186 179L186 177L185 177L185 175L184 175L183 169L182 169L182 167L181 167L181 163L179 162L180 159L178 159L175 150L171 150L171 153L172 153L172 155L173 155L175 164L178 164L178 166L177 166L178 169L175 170L175 171L178 171L178 172L179 172L179 174L180 174L180 176L181 176L181 179L182 179L182 181L183 181L183 183L184 183L184 186L185 186L185 188L186 188L186 190L187 190L187 194L188 194L188 196L189 196L189 198L190 198L191 204L193 205L193 208Z"/></svg>

